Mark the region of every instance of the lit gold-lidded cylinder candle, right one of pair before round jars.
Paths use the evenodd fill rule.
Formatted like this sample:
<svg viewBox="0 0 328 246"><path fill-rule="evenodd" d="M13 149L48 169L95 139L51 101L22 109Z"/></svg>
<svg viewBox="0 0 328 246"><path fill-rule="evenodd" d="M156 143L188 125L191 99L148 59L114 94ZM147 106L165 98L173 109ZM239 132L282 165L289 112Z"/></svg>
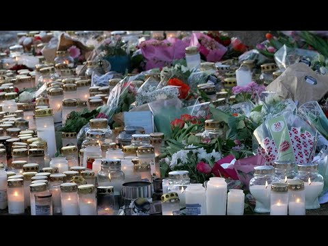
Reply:
<svg viewBox="0 0 328 246"><path fill-rule="evenodd" d="M288 181L288 214L305 215L305 191L303 180Z"/></svg>

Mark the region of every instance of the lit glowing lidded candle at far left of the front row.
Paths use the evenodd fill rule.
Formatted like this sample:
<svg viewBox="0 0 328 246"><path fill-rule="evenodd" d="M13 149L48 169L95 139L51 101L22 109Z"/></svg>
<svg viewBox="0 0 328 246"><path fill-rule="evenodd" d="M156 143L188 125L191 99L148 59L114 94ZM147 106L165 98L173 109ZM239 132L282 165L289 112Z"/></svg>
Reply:
<svg viewBox="0 0 328 246"><path fill-rule="evenodd" d="M7 182L8 213L10 215L25 213L23 183L24 180L21 178L12 178Z"/></svg>

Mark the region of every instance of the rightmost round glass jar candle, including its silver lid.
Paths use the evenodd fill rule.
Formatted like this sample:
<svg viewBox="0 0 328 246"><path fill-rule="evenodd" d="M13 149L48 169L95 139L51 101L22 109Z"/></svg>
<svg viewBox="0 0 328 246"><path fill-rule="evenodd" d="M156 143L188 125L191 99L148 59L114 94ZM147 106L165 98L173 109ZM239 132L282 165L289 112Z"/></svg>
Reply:
<svg viewBox="0 0 328 246"><path fill-rule="evenodd" d="M323 191L323 176L318 173L318 164L297 165L298 174L295 179L304 181L305 209L320 208L318 196Z"/></svg>

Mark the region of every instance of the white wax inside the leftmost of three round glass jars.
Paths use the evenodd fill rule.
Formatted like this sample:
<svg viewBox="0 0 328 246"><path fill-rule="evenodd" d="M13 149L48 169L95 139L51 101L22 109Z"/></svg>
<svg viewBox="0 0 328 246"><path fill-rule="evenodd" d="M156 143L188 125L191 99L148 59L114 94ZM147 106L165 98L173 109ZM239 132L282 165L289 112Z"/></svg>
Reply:
<svg viewBox="0 0 328 246"><path fill-rule="evenodd" d="M271 184L266 185L252 185L249 187L251 195L256 199L256 213L269 213L271 200Z"/></svg>

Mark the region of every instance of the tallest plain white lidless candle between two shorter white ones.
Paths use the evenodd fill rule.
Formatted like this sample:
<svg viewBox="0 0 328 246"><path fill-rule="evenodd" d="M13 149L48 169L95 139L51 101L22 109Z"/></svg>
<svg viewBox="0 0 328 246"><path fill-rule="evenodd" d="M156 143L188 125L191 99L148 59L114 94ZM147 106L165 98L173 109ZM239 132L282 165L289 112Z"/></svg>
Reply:
<svg viewBox="0 0 328 246"><path fill-rule="evenodd" d="M179 196L180 197L180 196ZM207 215L226 215L227 183L224 178L210 178L206 189Z"/></svg>

